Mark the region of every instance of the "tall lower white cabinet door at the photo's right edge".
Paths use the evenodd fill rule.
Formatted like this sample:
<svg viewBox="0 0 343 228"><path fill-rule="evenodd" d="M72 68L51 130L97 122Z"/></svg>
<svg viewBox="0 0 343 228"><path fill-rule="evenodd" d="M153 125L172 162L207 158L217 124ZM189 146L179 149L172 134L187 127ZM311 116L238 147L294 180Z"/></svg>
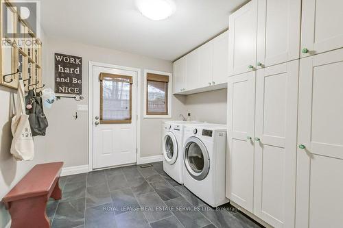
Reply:
<svg viewBox="0 0 343 228"><path fill-rule="evenodd" d="M343 224L342 68L343 49L300 60L298 228Z"/></svg>

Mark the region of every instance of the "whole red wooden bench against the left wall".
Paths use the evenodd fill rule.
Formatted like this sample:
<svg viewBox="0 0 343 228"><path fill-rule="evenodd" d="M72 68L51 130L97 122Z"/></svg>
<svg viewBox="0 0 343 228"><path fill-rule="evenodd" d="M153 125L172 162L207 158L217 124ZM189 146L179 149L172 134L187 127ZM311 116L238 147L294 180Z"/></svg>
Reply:
<svg viewBox="0 0 343 228"><path fill-rule="evenodd" d="M50 227L46 207L49 198L62 198L58 186L63 162L38 164L3 197L12 228Z"/></svg>

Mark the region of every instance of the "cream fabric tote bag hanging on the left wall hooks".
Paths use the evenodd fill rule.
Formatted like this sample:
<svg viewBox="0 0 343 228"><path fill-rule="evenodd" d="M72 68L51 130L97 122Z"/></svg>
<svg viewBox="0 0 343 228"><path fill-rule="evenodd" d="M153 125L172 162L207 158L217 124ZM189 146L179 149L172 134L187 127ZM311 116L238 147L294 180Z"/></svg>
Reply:
<svg viewBox="0 0 343 228"><path fill-rule="evenodd" d="M23 80L19 80L16 113L11 125L13 135L11 153L17 161L30 161L34 158L34 140L29 126L29 116L25 113L24 96Z"/></svg>

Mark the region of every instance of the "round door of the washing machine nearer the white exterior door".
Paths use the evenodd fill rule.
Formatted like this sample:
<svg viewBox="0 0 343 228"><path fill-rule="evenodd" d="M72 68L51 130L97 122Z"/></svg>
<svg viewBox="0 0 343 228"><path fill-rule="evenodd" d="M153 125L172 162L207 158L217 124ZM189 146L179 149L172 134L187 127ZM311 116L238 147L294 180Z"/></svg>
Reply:
<svg viewBox="0 0 343 228"><path fill-rule="evenodd" d="M174 164L178 158L178 141L171 131L167 131L163 139L163 156L169 164Z"/></svg>

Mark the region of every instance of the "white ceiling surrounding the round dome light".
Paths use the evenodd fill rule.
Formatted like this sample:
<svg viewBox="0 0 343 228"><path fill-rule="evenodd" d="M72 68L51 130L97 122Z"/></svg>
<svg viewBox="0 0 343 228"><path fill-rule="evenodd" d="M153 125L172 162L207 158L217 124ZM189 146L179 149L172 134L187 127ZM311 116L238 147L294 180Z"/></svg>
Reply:
<svg viewBox="0 0 343 228"><path fill-rule="evenodd" d="M228 27L246 0L175 0L176 12L151 21L134 0L42 0L45 34L162 60L175 60Z"/></svg>

